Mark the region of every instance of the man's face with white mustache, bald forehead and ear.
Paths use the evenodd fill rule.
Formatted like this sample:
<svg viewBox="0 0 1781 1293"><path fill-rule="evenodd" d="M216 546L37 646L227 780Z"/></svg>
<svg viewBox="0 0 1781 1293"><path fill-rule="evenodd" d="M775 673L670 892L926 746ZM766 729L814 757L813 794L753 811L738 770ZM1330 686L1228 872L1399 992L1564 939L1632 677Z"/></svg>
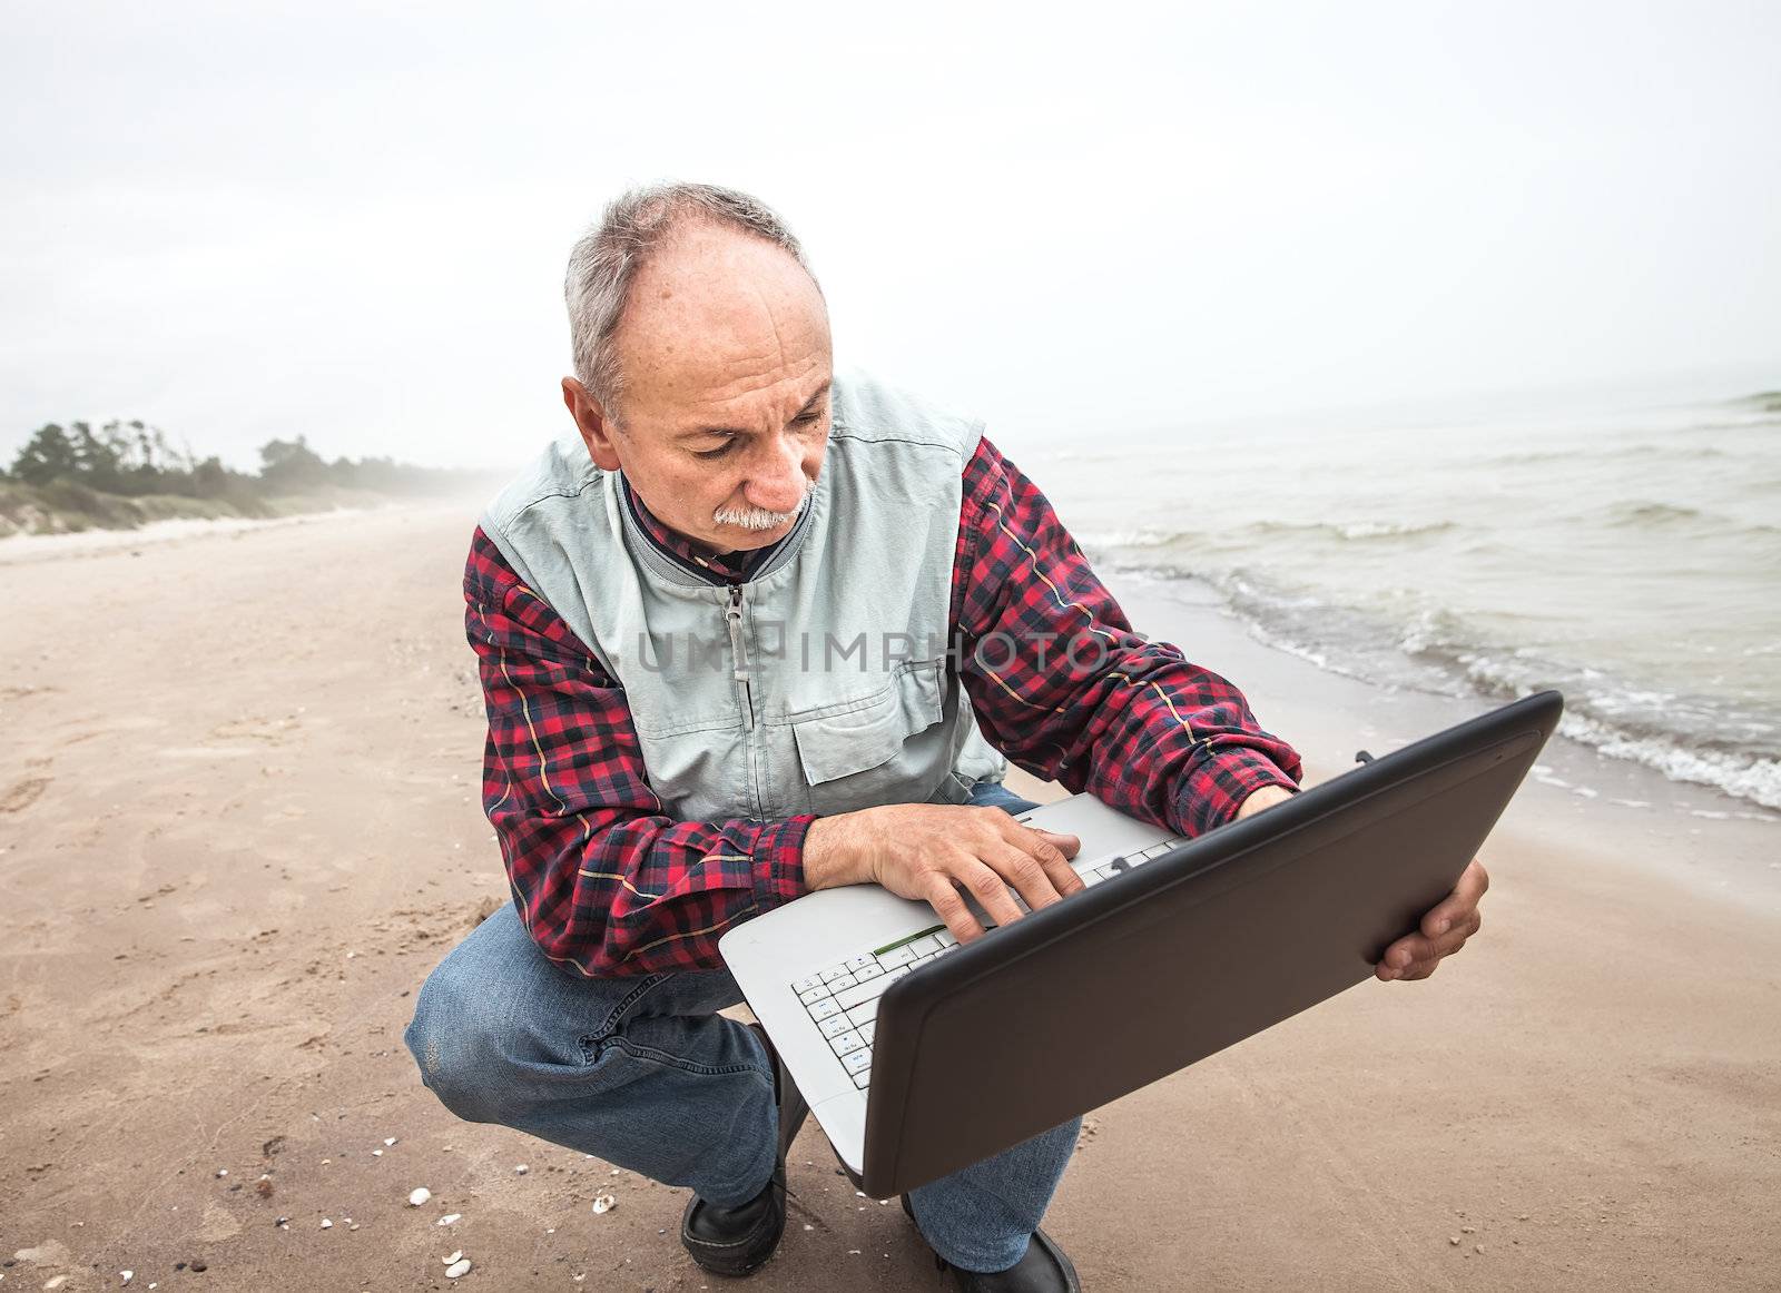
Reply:
<svg viewBox="0 0 1781 1293"><path fill-rule="evenodd" d="M828 310L760 239L684 226L630 287L623 392L563 401L595 465L623 470L657 520L718 552L791 533L828 447Z"/></svg>

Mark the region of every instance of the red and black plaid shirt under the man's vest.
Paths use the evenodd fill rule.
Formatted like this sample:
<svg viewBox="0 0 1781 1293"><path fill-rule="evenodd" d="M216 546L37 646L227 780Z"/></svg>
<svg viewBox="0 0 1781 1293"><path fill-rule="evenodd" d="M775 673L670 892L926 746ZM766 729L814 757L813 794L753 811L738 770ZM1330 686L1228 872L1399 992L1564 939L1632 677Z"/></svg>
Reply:
<svg viewBox="0 0 1781 1293"><path fill-rule="evenodd" d="M744 579L764 556L703 552L641 500L638 515L716 582ZM807 892L814 816L671 819L623 687L481 529L463 588L488 705L483 807L550 960L588 976L716 969L723 930ZM1186 835L1229 821L1250 791L1298 780L1298 755L1257 727L1234 686L1131 630L1045 495L988 440L964 470L951 622L983 734L1037 777ZM983 650L988 668L976 645L990 634L1053 650L1044 661ZM1088 639L1104 659L1065 652Z"/></svg>

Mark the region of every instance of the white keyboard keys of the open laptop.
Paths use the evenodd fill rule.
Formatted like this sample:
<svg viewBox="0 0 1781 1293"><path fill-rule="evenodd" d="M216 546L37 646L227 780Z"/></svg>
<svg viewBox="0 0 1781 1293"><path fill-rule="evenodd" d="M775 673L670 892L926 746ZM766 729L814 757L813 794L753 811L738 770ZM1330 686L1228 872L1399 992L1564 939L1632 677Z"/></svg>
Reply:
<svg viewBox="0 0 1781 1293"><path fill-rule="evenodd" d="M1161 844L1111 857L1097 864L1085 864L1076 869L1083 883L1090 889L1111 880L1122 871L1133 871L1151 858L1158 858L1181 844L1183 839L1165 839ZM1024 914L1028 905L1019 894L1010 892L1015 907ZM873 1074L873 1035L878 1029L878 997L885 988L905 974L921 969L928 962L958 951L958 940L944 924L931 924L905 939L899 939L876 951L862 951L844 962L830 965L817 974L809 974L791 985L798 1001L810 1012L810 1019L828 1038L828 1049L860 1090L871 1083Z"/></svg>

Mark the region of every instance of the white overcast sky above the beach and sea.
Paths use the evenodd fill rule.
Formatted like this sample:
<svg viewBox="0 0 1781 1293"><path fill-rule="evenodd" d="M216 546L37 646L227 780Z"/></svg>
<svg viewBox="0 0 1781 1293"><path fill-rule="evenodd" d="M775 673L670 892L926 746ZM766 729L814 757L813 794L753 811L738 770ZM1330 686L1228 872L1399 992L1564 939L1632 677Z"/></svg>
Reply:
<svg viewBox="0 0 1781 1293"><path fill-rule="evenodd" d="M987 11L987 7L983 7ZM566 429L627 183L748 189L839 362L1006 438L1781 385L1781 5L0 9L0 458Z"/></svg>

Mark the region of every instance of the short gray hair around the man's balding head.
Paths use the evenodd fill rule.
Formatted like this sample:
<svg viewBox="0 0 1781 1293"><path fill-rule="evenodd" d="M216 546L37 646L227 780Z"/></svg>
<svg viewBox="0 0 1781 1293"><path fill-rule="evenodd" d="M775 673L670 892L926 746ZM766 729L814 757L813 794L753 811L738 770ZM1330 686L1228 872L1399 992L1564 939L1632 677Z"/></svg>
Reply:
<svg viewBox="0 0 1781 1293"><path fill-rule="evenodd" d="M766 239L810 272L803 248L785 223L746 192L714 183L648 183L614 198L600 221L575 242L563 278L575 376L609 415L623 390L616 333L630 283L648 255L689 219Z"/></svg>

